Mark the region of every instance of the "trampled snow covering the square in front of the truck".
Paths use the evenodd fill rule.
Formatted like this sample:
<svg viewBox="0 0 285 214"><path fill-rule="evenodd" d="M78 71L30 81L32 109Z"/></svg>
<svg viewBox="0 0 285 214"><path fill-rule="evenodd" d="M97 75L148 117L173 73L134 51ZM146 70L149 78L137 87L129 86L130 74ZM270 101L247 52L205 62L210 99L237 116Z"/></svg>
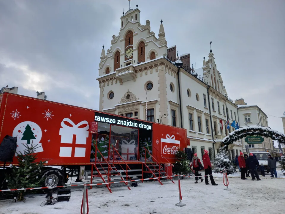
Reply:
<svg viewBox="0 0 285 214"><path fill-rule="evenodd" d="M131 191L125 186L114 188L112 194L107 188L93 188L88 190L89 213L283 213L285 180L271 179L269 175L261 179L229 178L232 191L224 191L223 178L220 177L215 178L218 186L205 185L205 181L194 184L194 178L183 179L181 192L185 207L175 206L179 202L177 180L175 184L164 182L163 186L158 182L144 182L131 187ZM36 198L27 198L26 203L0 202L0 214L78 214L82 190L82 187L73 187L69 202L44 207L40 204L45 201L45 195L32 195Z"/></svg>

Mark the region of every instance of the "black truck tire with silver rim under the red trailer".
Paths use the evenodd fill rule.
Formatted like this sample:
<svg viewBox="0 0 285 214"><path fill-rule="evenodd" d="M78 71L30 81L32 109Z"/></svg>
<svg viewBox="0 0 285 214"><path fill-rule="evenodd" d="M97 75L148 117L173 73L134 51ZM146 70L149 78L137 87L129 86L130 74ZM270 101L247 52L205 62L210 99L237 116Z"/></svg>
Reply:
<svg viewBox="0 0 285 214"><path fill-rule="evenodd" d="M50 188L42 189L45 193L48 193L50 190L53 192L56 191L58 188L56 186L64 186L64 176L63 172L61 170L57 169L50 169L45 172L45 174L42 175L42 178L44 178L42 186Z"/></svg>

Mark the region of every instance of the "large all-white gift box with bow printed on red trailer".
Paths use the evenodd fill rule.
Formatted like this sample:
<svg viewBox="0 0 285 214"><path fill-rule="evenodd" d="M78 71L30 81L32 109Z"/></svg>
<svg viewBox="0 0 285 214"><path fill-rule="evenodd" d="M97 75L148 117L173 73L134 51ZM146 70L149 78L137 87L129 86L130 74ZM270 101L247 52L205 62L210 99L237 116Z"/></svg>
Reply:
<svg viewBox="0 0 285 214"><path fill-rule="evenodd" d="M66 125L64 122L67 122ZM85 125L83 128L79 126ZM79 122L75 125L69 118L64 118L61 122L61 127L59 129L59 135L61 135L60 143L72 144L73 135L76 135L75 144L86 144L86 140L89 136L89 125L86 120ZM60 147L59 156L60 157L71 157L73 147ZM85 147L75 147L75 157L85 157Z"/></svg>

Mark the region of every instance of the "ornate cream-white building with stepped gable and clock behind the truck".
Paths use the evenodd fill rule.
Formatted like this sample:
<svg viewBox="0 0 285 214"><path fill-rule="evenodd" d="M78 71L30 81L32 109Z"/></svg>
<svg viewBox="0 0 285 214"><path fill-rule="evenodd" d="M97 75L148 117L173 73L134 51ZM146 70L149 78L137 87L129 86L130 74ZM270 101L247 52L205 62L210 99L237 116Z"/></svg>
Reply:
<svg viewBox="0 0 285 214"><path fill-rule="evenodd" d="M97 80L100 111L186 128L189 147L200 157L209 150L212 161L228 134L225 122L238 122L212 50L195 71L189 53L178 57L176 46L167 46L162 21L157 38L149 20L140 23L138 9L123 14L111 47L103 46ZM232 158L239 155L241 142L229 150Z"/></svg>

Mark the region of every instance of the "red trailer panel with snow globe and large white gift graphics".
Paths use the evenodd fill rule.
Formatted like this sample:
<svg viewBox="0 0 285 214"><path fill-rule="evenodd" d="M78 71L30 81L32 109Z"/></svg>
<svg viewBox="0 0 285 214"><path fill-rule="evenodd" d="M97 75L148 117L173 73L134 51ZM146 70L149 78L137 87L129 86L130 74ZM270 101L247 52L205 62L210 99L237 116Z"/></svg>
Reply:
<svg viewBox="0 0 285 214"><path fill-rule="evenodd" d="M38 161L49 160L48 165L90 163L89 127L94 111L4 94L0 114L0 142L5 135L16 136L17 152L23 153L23 145L33 143L38 146ZM15 157L13 163L17 163Z"/></svg>

